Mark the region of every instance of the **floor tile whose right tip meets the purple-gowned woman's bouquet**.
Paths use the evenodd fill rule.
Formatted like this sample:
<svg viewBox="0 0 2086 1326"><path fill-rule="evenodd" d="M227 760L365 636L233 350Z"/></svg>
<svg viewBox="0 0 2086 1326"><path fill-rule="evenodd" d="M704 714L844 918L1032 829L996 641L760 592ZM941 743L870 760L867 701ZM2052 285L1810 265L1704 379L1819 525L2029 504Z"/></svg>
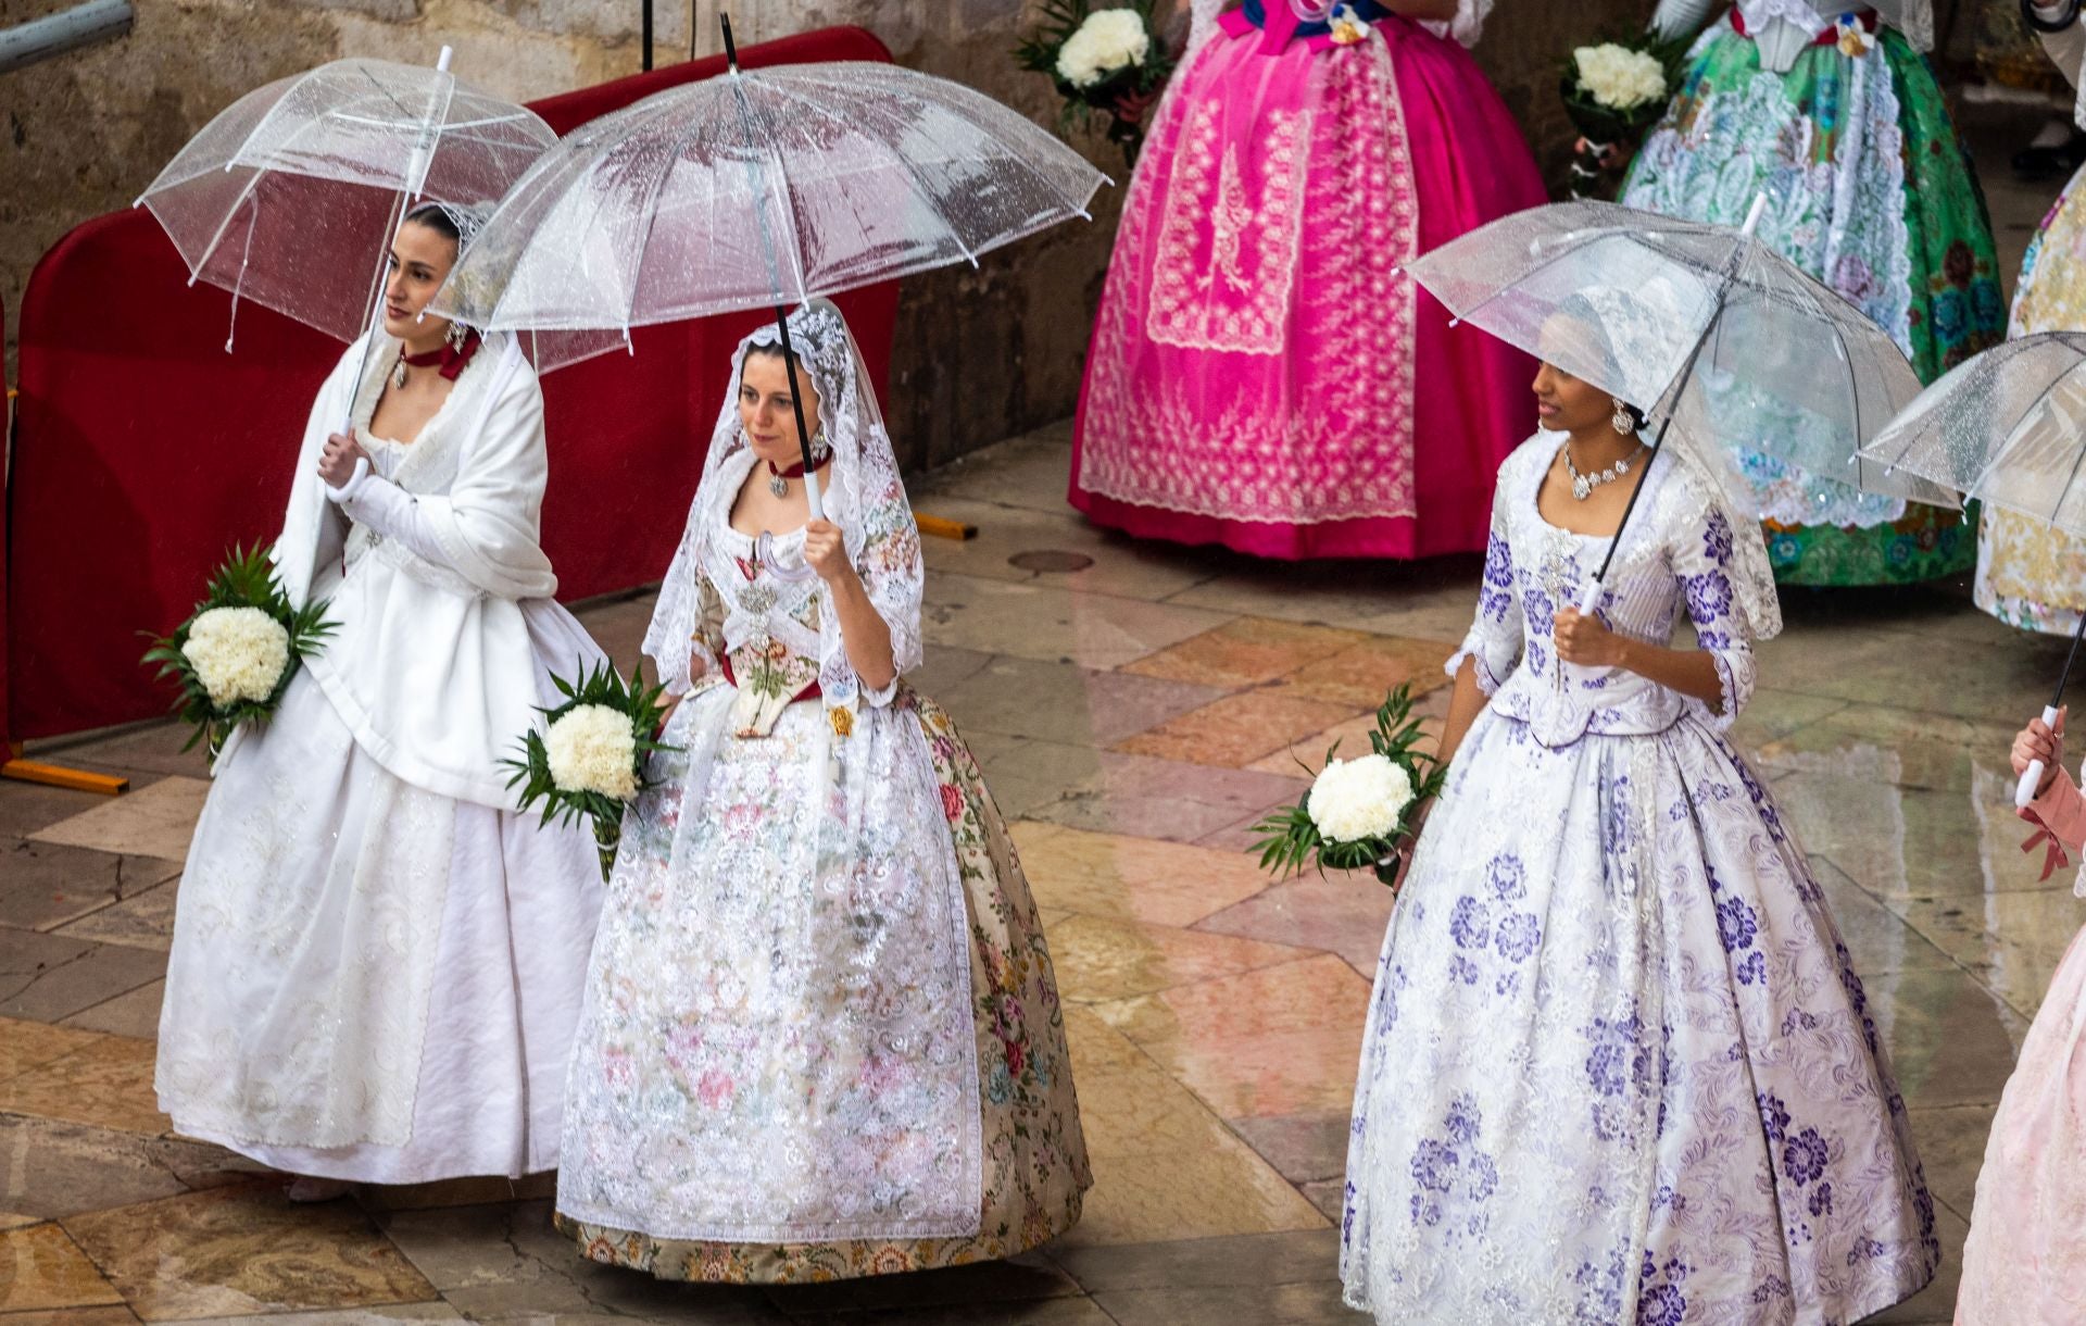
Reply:
<svg viewBox="0 0 2086 1326"><path fill-rule="evenodd" d="M1195 842L1306 787L1304 779L1247 768L1101 752L1089 779L1033 814L1074 829Z"/></svg>

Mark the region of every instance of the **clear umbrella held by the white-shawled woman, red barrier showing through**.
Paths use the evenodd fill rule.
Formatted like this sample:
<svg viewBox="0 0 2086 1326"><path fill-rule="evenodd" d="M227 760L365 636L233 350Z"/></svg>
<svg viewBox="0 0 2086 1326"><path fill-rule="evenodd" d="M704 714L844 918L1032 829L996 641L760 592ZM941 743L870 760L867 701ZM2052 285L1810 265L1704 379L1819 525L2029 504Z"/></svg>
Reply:
<svg viewBox="0 0 2086 1326"><path fill-rule="evenodd" d="M355 340L413 198L492 203L557 142L534 113L430 69L334 61L225 106L138 198L202 280ZM225 349L232 349L227 334Z"/></svg>

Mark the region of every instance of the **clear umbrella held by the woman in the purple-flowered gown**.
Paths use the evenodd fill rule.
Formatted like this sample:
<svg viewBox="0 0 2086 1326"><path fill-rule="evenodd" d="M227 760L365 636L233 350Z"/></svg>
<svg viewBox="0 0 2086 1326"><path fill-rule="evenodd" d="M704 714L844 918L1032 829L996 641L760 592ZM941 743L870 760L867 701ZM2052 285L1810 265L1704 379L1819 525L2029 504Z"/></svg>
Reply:
<svg viewBox="0 0 2086 1326"><path fill-rule="evenodd" d="M1861 461L1861 443L1919 395L1919 376L1879 326L1754 238L1765 205L1763 194L1744 230L1729 230L1556 203L1408 269L1460 322L1658 418L1654 459L1679 416L1692 436L1952 505L1938 484ZM1617 547L1621 530L1610 560Z"/></svg>

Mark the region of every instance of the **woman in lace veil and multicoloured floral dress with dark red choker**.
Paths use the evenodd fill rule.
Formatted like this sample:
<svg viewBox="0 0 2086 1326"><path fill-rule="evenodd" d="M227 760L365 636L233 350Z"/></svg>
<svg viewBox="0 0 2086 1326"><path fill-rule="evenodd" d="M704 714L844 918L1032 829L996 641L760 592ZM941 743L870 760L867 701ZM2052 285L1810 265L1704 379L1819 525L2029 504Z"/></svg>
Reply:
<svg viewBox="0 0 2086 1326"><path fill-rule="evenodd" d="M603 904L557 1224L668 1280L1010 1257L1091 1184L1049 950L920 664L920 539L841 313L732 361L645 654L682 695Z"/></svg>

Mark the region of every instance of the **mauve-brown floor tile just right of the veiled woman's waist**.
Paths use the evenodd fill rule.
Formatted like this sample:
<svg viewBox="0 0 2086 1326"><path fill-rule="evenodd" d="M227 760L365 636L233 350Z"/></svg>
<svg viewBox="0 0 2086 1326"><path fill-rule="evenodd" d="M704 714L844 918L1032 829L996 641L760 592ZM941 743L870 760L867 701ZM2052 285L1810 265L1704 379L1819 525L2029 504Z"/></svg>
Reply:
<svg viewBox="0 0 2086 1326"><path fill-rule="evenodd" d="M1010 695L1022 704L1008 704ZM1114 745L1220 695L1204 685L999 656L935 697L966 735Z"/></svg>

